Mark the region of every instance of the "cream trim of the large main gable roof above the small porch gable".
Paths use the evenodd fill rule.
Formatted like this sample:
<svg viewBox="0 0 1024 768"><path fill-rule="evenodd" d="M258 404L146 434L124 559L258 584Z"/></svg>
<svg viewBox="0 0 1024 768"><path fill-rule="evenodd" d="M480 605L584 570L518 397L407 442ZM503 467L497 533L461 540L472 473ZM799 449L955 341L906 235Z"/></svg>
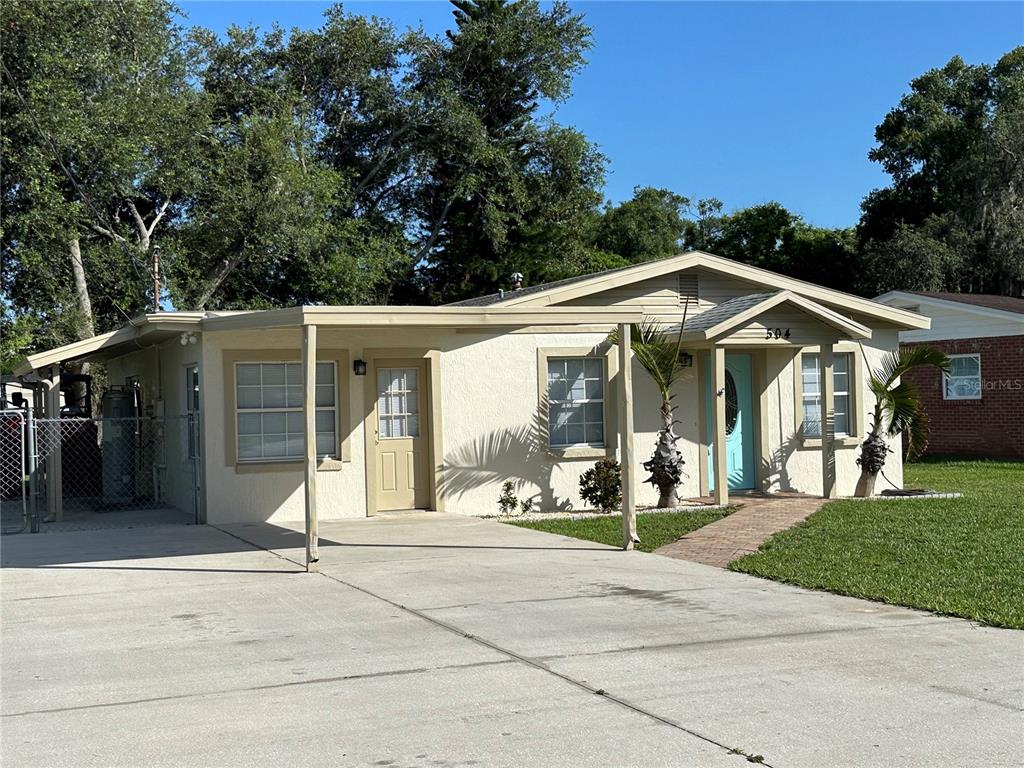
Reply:
<svg viewBox="0 0 1024 768"><path fill-rule="evenodd" d="M722 274L727 274L755 285L775 288L781 291L791 291L813 299L816 302L841 306L845 311L856 312L891 323L901 329L927 329L931 326L931 321L928 317L905 309L880 304L870 299L843 293L842 291L822 288L813 283L797 280L796 278L787 278L768 269L761 269L760 267L744 264L741 261L722 258L721 256L715 256L703 251L689 251L678 256L670 256L617 269L608 269L594 274L584 274L554 283L546 283L534 286L532 288L506 291L504 294L490 294L476 299L468 299L465 302L458 302L456 305L546 306L693 267L721 272Z"/></svg>

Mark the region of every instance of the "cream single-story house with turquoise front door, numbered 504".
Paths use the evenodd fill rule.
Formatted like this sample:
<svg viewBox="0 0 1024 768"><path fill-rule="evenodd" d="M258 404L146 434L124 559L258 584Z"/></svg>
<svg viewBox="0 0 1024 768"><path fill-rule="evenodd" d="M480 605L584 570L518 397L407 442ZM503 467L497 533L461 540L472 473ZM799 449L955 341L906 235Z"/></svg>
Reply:
<svg viewBox="0 0 1024 768"><path fill-rule="evenodd" d="M700 252L439 307L158 312L18 373L102 360L145 413L201 413L212 523L301 520L310 504L319 519L493 514L506 480L540 509L580 507L605 456L624 462L627 504L653 504L640 465L660 398L624 365L628 333L608 334L676 333L684 309L680 496L851 495L868 367L928 318ZM898 454L885 471L900 482Z"/></svg>

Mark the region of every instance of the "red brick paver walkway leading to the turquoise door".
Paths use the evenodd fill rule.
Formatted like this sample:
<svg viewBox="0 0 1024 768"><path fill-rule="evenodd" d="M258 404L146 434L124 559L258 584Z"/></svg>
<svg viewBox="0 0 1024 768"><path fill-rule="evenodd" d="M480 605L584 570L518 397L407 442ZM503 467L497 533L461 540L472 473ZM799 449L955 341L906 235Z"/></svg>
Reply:
<svg viewBox="0 0 1024 768"><path fill-rule="evenodd" d="M772 534L805 520L826 500L802 494L773 494L730 501L742 506L728 517L665 545L656 553L724 568L737 557L756 552Z"/></svg>

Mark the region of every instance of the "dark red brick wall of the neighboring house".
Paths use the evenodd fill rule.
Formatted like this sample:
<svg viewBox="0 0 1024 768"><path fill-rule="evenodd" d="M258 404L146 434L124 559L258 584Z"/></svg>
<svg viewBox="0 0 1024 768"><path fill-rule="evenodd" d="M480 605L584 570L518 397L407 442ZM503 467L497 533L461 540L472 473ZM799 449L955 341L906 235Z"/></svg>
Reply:
<svg viewBox="0 0 1024 768"><path fill-rule="evenodd" d="M981 399L947 400L942 374L911 371L930 419L929 454L1024 458L1024 336L930 341L946 354L981 355Z"/></svg>

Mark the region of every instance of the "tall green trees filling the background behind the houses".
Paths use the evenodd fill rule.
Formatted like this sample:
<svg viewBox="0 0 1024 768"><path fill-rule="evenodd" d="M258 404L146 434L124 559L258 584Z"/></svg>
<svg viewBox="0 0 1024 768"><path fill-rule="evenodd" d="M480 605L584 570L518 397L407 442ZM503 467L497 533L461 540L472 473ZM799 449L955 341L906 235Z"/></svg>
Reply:
<svg viewBox="0 0 1024 768"><path fill-rule="evenodd" d="M891 184L823 228L643 185L606 203L606 158L553 118L583 15L452 5L438 36L340 5L217 36L166 0L4 3L4 359L158 300L440 303L689 248L865 295L1024 287L1024 48L913 80L869 155Z"/></svg>

